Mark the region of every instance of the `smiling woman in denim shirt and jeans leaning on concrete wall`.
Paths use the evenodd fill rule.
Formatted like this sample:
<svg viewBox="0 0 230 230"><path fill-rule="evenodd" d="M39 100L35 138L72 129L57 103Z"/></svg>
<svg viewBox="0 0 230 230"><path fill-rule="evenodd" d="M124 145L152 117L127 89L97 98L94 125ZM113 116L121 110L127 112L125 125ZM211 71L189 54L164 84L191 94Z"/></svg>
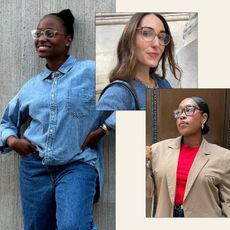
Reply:
<svg viewBox="0 0 230 230"><path fill-rule="evenodd" d="M32 31L46 68L9 102L0 124L1 151L21 156L25 230L96 229L92 208L102 146L80 150L87 134L99 126L95 63L68 55L73 23L71 11L63 10L45 15Z"/></svg>

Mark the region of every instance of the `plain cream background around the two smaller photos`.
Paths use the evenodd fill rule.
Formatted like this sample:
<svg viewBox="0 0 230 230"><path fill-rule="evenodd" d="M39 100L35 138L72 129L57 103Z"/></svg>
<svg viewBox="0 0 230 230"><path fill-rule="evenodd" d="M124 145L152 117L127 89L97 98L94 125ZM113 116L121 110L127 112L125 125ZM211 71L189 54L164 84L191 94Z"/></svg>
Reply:
<svg viewBox="0 0 230 230"><path fill-rule="evenodd" d="M230 88L229 9L228 0L116 0L117 12L198 12L199 88ZM116 156L117 230L229 228L230 218L145 218L144 111L117 112Z"/></svg>

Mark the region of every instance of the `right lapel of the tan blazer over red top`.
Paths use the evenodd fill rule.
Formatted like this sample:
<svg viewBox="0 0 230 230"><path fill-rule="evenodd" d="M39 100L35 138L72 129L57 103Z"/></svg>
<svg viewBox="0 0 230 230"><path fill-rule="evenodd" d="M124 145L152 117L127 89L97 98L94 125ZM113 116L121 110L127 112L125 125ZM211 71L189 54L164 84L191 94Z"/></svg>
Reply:
<svg viewBox="0 0 230 230"><path fill-rule="evenodd" d="M185 187L185 193L184 193L184 201L186 199L186 197L189 194L189 191L192 188L192 185L194 183L194 181L196 180L199 172L201 171L201 169L206 165L206 163L208 162L209 158L207 157L207 155L209 155L208 151L207 151L207 141L203 138L201 146L198 150L198 153L193 161L192 167L189 171L188 174L188 179L187 179L187 183L186 183L186 187Z"/></svg>

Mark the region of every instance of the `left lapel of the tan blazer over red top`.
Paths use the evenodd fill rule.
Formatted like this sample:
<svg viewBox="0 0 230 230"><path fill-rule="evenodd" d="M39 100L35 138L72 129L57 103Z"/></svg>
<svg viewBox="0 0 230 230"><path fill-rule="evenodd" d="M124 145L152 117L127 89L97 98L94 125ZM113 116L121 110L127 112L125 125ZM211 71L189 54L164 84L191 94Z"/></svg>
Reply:
<svg viewBox="0 0 230 230"><path fill-rule="evenodd" d="M168 145L170 149L169 154L169 162L167 168L167 183L168 183L168 191L170 195L170 199L172 204L174 204L175 193L176 193L176 175L177 175L177 164L178 158L180 154L180 145L181 145L181 137L178 137L173 140L173 142Z"/></svg>

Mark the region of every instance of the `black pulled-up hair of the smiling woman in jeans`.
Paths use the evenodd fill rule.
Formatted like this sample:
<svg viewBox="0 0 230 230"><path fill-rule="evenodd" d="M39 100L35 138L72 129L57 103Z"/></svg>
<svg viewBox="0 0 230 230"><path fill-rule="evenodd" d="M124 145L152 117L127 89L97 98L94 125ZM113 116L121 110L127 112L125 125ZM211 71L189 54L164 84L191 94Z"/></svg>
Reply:
<svg viewBox="0 0 230 230"><path fill-rule="evenodd" d="M73 29L74 16L73 16L70 9L65 9L65 10L62 10L58 13L51 13L48 15L55 15L55 16L59 17L63 22L63 25L64 25L65 30L66 30L66 34L70 35L71 38L73 39L73 37L74 37L74 29Z"/></svg>

